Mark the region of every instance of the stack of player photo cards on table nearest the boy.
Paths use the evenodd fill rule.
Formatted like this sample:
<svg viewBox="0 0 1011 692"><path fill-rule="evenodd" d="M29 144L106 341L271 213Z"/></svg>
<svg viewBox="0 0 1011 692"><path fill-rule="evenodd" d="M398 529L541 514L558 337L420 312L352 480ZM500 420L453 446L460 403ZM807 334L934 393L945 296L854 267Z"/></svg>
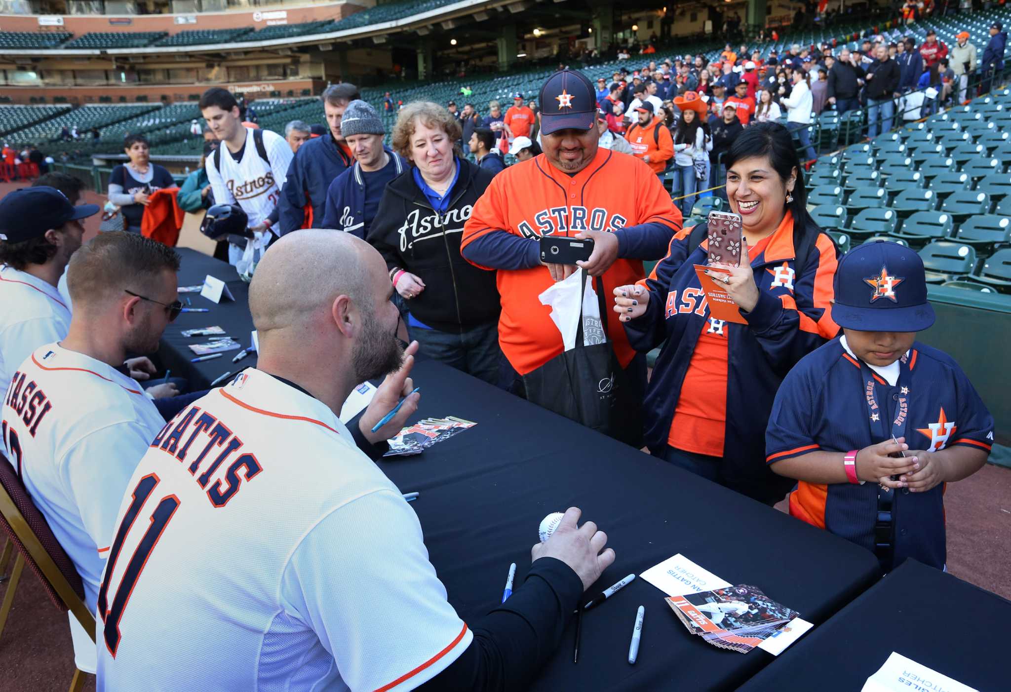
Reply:
<svg viewBox="0 0 1011 692"><path fill-rule="evenodd" d="M741 654L747 654L800 615L747 584L664 600L690 632L715 647Z"/></svg>

